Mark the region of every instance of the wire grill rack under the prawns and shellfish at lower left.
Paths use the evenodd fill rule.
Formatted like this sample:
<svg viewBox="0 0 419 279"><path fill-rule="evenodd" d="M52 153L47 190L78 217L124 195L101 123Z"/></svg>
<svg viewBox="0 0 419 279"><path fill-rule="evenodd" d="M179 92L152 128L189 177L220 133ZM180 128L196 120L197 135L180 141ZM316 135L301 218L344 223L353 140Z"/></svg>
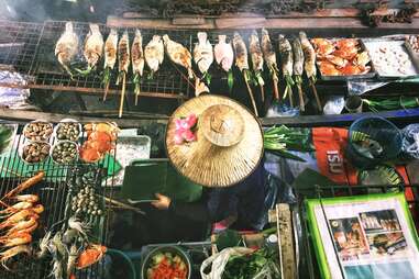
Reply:
<svg viewBox="0 0 419 279"><path fill-rule="evenodd" d="M23 125L19 125L19 131L23 130ZM86 138L86 132L82 133L80 137L81 143ZM26 140L23 138L22 134L16 134L13 140L13 147L9 155L4 155L4 159L0 160L0 197L5 192L10 191L16 187L22 181L32 177L36 174L37 170L42 169L45 171L44 180L36 186L31 187L30 189L23 191L23 193L34 193L38 194L41 204L44 205L45 211L40 215L40 226L34 231L32 247L35 247L34 250L37 250L37 241L44 236L48 231L53 233L57 232L62 224L67 220L66 207L68 202L68 183L70 182L71 174L77 171L79 168L90 167L100 171L108 171L110 168L110 161L103 160L97 164L70 164L70 165L57 165L52 163L52 158L48 157L41 164L27 164L25 165L22 160L19 160L19 149ZM52 143L52 145L54 142ZM113 155L117 153L117 144L113 150ZM49 167L54 166L54 167ZM14 170L11 170L10 168ZM23 170L25 169L25 175ZM114 169L112 169L114 170ZM108 174L109 175L109 174ZM100 176L99 176L100 177ZM96 187L99 188L98 192L106 194L112 199L113 197L113 178L114 171L111 171L111 175L108 179L101 180L100 183L97 183ZM103 200L104 203L104 200ZM96 237L100 243L107 245L108 243L108 231L109 231L109 213L111 208L104 204L103 215L100 224L103 224L101 234ZM2 279L14 279L14 278L49 278L52 266L49 264L49 257L46 259L35 259L32 255L27 256L18 256L11 260L11 265L8 265L11 268L11 271L5 270L0 267L0 278ZM75 272L77 278L101 278L101 275L104 272L104 259L99 261L89 268L78 270Z"/></svg>

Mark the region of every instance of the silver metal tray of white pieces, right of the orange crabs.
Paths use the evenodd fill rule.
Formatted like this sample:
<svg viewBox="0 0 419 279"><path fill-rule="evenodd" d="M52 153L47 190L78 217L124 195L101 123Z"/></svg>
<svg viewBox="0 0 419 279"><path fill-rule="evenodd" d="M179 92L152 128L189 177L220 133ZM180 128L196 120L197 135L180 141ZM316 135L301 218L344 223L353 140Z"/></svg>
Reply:
<svg viewBox="0 0 419 279"><path fill-rule="evenodd" d="M406 78L419 77L418 63L414 59L412 53L410 53L407 49L405 41L388 40L388 38L363 38L362 41L363 41L363 44L365 45L366 49L368 51L370 57L372 58L372 64L374 65L374 69L377 72L378 79L388 80L388 79L406 79ZM411 65L412 65L411 70L415 70L415 74L411 74L411 75L403 75L403 74L400 74L400 75L388 75L385 72L381 72L379 68L377 68L377 66L374 64L373 56L371 55L371 51L373 48L373 45L378 44L378 43L386 43L387 45L394 44L395 46L401 46L403 48L405 48L406 54L409 56L409 58L411 60ZM370 47L368 47L368 45L370 45Z"/></svg>

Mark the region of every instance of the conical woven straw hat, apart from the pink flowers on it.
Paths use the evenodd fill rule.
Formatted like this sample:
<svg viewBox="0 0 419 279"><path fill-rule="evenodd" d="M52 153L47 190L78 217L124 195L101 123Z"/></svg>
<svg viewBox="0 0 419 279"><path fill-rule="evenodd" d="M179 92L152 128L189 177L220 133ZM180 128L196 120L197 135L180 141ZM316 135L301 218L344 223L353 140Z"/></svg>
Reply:
<svg viewBox="0 0 419 279"><path fill-rule="evenodd" d="M192 113L198 116L197 141L175 144L175 120ZM257 167L263 156L263 134L258 121L243 105L207 94L174 112L167 125L166 147L175 168L195 183L228 187Z"/></svg>

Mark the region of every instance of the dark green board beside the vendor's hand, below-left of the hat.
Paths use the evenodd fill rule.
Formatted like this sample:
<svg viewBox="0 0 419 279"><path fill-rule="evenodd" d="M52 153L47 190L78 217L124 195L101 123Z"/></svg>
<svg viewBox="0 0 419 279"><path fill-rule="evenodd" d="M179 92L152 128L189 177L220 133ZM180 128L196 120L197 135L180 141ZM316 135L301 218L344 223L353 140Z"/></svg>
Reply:
<svg viewBox="0 0 419 279"><path fill-rule="evenodd" d="M154 200L156 192L192 202L201 197L202 187L179 175L168 159L136 160L125 167L121 198Z"/></svg>

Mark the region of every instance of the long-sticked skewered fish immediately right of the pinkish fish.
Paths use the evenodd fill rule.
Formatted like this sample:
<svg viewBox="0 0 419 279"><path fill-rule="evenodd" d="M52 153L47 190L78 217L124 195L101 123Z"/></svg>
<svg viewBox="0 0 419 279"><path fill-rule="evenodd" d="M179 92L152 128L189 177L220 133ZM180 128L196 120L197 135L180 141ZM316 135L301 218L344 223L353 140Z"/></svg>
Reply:
<svg viewBox="0 0 419 279"><path fill-rule="evenodd" d="M246 45L244 44L242 36L238 32L235 32L233 36L233 47L235 51L235 66L243 74L244 82L246 83L246 87L247 87L247 92L252 101L253 110L255 115L257 116L256 102L255 102L252 89L249 85L251 80L251 72L249 69L247 48L246 48Z"/></svg>

